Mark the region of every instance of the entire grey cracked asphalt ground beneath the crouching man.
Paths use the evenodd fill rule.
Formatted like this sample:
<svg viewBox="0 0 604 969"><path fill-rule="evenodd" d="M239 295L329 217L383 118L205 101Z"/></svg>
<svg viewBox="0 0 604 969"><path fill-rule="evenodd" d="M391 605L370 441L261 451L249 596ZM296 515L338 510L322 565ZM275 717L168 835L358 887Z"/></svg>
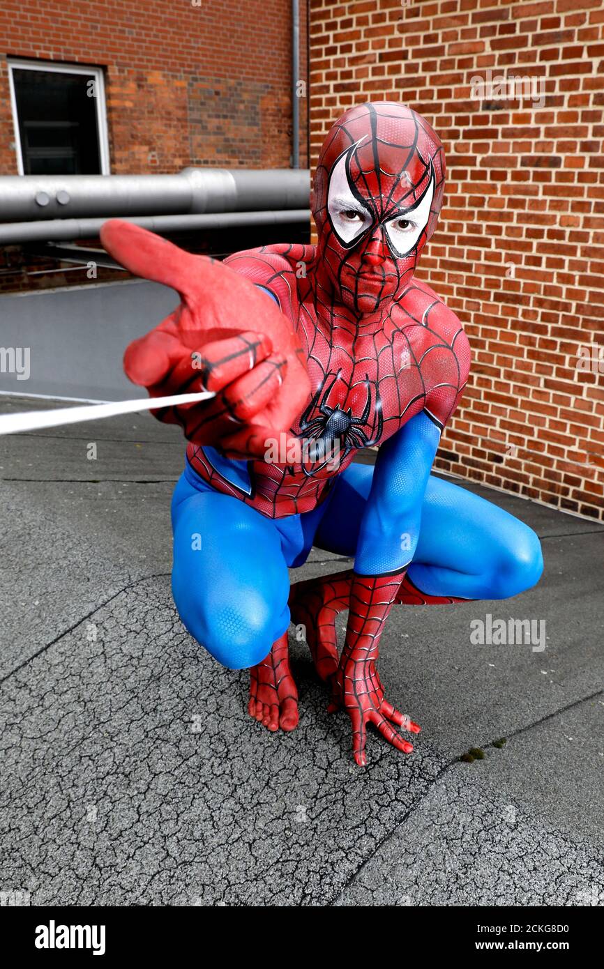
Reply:
<svg viewBox="0 0 604 969"><path fill-rule="evenodd" d="M182 460L179 432L147 415L0 439L0 890L41 905L604 904L604 528L472 487L536 529L545 576L505 603L393 610L380 672L423 732L409 757L370 735L360 769L303 643L300 727L271 735L245 712L247 672L180 624ZM296 578L345 567L314 549ZM472 645L488 612L545 620L546 649ZM471 747L484 758L461 762Z"/></svg>

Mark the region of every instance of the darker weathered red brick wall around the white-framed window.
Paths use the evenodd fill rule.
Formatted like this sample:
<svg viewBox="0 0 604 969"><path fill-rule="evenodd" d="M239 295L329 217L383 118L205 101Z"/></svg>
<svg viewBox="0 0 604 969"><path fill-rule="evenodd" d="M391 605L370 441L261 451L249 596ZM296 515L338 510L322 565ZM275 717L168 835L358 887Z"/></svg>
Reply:
<svg viewBox="0 0 604 969"><path fill-rule="evenodd" d="M16 173L7 55L106 69L113 173L290 165L290 0L2 0L0 174Z"/></svg>

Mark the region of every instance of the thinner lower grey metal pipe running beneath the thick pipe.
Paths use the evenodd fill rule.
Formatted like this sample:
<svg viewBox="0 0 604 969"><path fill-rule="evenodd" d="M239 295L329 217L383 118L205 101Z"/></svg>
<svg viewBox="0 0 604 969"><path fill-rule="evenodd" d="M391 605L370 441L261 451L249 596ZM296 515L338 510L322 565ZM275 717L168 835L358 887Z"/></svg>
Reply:
<svg viewBox="0 0 604 969"><path fill-rule="evenodd" d="M279 226L293 222L308 222L309 208L286 208L281 211L214 212L201 215L147 215L128 216L126 221L143 226L158 234L191 232L207 229L233 229L243 226ZM0 245L16 245L20 242L40 242L49 239L95 238L101 226L107 222L100 219L52 219L38 222L13 222L0 225Z"/></svg>

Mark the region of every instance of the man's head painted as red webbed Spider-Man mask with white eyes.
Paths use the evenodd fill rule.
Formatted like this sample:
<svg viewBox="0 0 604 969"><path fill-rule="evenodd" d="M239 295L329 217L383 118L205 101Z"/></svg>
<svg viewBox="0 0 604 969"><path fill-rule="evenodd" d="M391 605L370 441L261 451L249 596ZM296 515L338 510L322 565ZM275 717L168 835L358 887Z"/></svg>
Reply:
<svg viewBox="0 0 604 969"><path fill-rule="evenodd" d="M436 226L444 179L442 144L412 109L384 102L342 115L313 193L334 301L364 315L402 292Z"/></svg>

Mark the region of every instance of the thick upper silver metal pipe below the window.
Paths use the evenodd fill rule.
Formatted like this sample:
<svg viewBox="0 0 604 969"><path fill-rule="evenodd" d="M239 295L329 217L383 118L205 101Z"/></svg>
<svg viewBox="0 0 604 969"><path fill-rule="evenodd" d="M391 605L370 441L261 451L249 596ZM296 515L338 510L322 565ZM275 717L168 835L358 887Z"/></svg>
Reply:
<svg viewBox="0 0 604 969"><path fill-rule="evenodd" d="M0 177L0 223L302 208L308 204L309 191L310 175L302 169L4 175Z"/></svg>

